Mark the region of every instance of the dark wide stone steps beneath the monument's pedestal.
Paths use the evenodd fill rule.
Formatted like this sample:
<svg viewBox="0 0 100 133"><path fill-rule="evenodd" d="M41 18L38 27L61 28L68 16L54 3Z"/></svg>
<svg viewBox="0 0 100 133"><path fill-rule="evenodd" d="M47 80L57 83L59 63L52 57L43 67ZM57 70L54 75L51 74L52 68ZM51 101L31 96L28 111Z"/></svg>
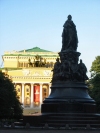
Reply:
<svg viewBox="0 0 100 133"><path fill-rule="evenodd" d="M41 123L49 127L87 127L100 128L100 115L98 114L49 114Z"/></svg>

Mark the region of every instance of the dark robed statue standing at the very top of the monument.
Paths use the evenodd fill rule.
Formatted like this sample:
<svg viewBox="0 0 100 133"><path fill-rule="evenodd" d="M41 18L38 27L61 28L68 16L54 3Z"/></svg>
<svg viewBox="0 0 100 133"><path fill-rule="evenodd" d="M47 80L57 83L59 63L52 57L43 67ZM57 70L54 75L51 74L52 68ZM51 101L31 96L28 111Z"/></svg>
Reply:
<svg viewBox="0 0 100 133"><path fill-rule="evenodd" d="M63 33L62 33L62 50L77 50L78 46L78 37L76 26L72 21L72 16L68 15L68 20L63 25Z"/></svg>

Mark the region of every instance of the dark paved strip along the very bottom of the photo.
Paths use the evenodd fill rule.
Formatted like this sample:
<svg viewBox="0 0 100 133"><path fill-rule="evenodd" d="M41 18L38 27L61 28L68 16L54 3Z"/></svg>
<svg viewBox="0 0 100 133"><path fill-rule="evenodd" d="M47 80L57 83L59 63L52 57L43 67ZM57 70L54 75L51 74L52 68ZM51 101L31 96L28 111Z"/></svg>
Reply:
<svg viewBox="0 0 100 133"><path fill-rule="evenodd" d="M100 130L23 130L23 129L5 129L0 133L100 133Z"/></svg>

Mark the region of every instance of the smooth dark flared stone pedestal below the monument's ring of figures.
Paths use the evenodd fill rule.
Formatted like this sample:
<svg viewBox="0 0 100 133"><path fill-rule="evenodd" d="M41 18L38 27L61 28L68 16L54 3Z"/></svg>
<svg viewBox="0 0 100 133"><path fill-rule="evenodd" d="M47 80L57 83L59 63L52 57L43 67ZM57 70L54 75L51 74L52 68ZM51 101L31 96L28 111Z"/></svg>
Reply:
<svg viewBox="0 0 100 133"><path fill-rule="evenodd" d="M96 113L95 101L83 82L52 84L51 94L43 101L42 113Z"/></svg>

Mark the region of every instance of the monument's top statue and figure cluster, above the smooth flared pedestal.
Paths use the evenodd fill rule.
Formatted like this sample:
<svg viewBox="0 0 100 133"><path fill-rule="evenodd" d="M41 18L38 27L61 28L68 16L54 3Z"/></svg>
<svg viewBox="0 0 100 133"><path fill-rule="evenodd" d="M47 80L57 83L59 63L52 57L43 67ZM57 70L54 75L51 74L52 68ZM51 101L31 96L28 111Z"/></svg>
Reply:
<svg viewBox="0 0 100 133"><path fill-rule="evenodd" d="M59 52L60 59L57 59L57 62L54 65L51 82L85 82L85 80L88 79L86 75L87 68L85 64L82 63L82 60L80 60L80 63L78 64L80 56L80 53L77 52L78 37L76 26L72 21L71 15L68 15L68 20L63 27L62 49L61 52Z"/></svg>

